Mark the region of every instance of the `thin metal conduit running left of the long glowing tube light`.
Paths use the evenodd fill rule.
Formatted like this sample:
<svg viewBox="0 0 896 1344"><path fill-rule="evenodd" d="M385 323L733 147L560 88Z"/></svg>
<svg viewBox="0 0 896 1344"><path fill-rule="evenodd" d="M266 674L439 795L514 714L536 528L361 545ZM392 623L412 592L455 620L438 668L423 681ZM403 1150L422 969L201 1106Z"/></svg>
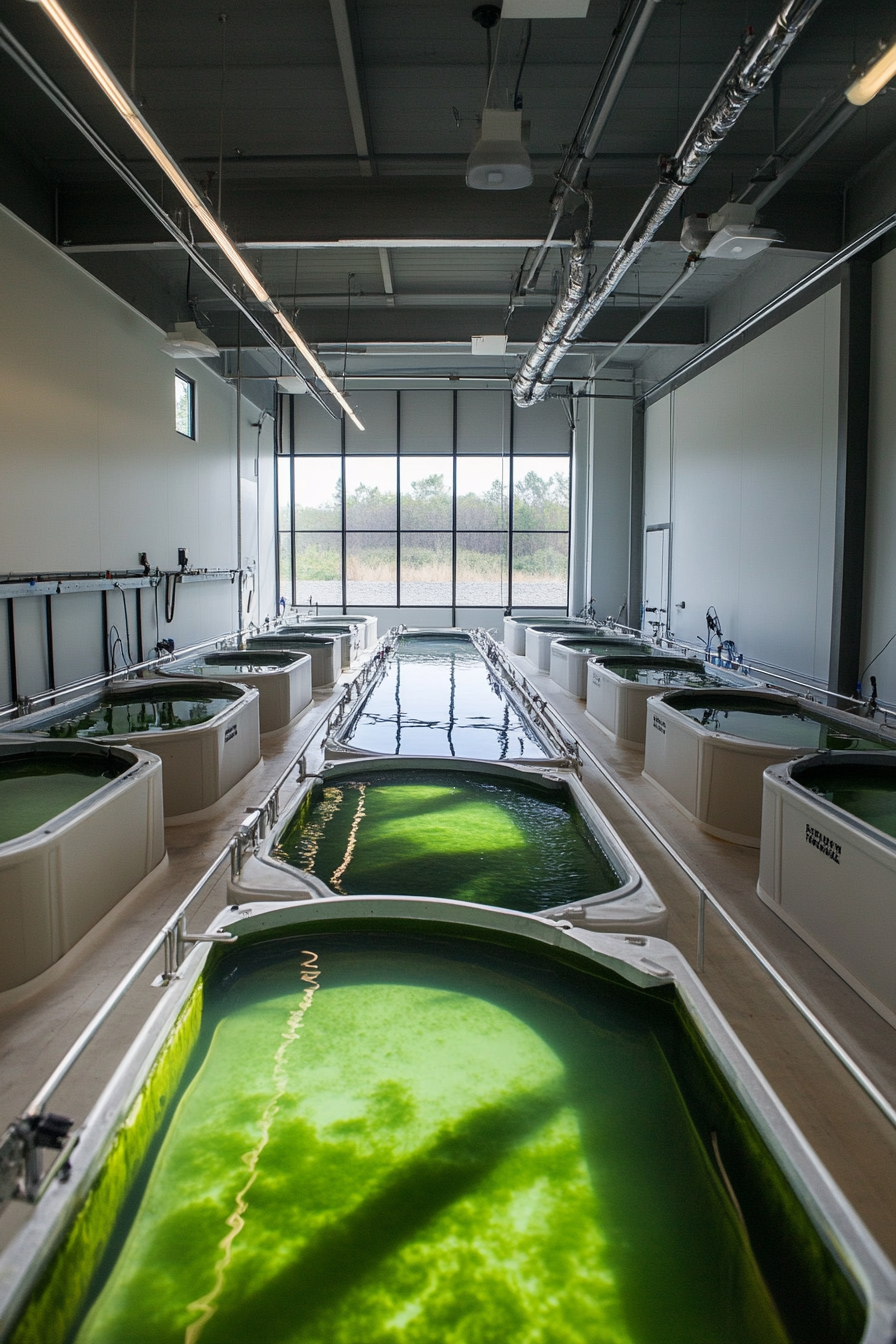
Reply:
<svg viewBox="0 0 896 1344"><path fill-rule="evenodd" d="M140 179L136 177L134 173L132 173L130 168L128 168L124 160L121 160L118 155L114 152L114 149L111 149L106 144L106 141L99 136L97 130L94 130L94 128L90 125L86 117L83 117L78 112L75 105L69 101L62 89L59 89L59 86L52 82L46 70L40 65L38 65L31 52L27 51L26 47L21 46L19 39L5 27L5 24L1 23L0 23L0 51L4 51L8 56L11 56L11 59L15 60L15 63L19 66L20 70L24 70L24 73L28 75L30 79L34 81L38 89L40 89L42 93L44 93L52 103L55 103L59 112L62 112L62 114L69 118L69 121L73 124L73 126L75 126L77 130L81 132L85 140L87 140L94 146L97 153L102 159L105 159L106 163L110 165L110 168L113 168L118 173L118 176L128 184L128 187L130 187L133 194L140 198L140 200L149 210L149 212L154 215L154 218L172 235L172 238L175 238L175 241L180 245L180 247L183 247L183 250L191 258L193 265L197 266L199 270L201 270L201 273L207 276L208 280L211 280L211 282L218 289L220 289L224 297L230 300L234 308L239 313L242 313L249 323L251 323L251 325L255 328L262 340L267 345L270 345L274 353L279 359L282 359L285 364L289 366L290 371L296 374L297 378L302 379L302 382L308 387L308 391L312 394L318 406L321 406L328 415L332 415L333 419L341 419L341 413L337 413L333 409L329 399L324 396L314 386L314 382L310 380L302 372L301 367L296 363L292 355L289 355L286 349L283 349L283 347L279 344L279 341L275 340L274 336L271 336L271 333L263 327L263 324L259 321L258 316L251 310L251 308L249 308L249 305L244 304L243 300L238 297L238 294L235 293L234 289L231 289L224 277L219 276L219 273L211 265L211 261L206 255L203 255L201 247L197 246L192 238L188 238L187 234L184 234L183 230L177 227L175 220L168 214L165 214L159 202L152 198L152 195L146 191ZM207 246L208 245L203 245L203 247Z"/></svg>

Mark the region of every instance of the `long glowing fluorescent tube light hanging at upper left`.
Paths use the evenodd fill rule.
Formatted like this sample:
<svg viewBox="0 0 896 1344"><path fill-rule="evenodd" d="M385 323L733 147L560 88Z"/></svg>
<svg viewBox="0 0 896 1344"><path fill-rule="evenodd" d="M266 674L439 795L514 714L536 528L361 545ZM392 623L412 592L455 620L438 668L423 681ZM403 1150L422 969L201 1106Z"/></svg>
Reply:
<svg viewBox="0 0 896 1344"><path fill-rule="evenodd" d="M82 65L94 77L102 91L106 94L113 108L125 118L133 133L141 141L145 149L149 151L152 157L156 160L161 171L165 173L169 181L175 184L184 202L189 206L192 212L196 215L203 228L208 233L210 238L214 238L218 247L231 263L239 278L243 281L247 289L255 296L259 304L274 316L279 325L286 332L289 341L296 349L302 355L306 363L314 370L316 375L320 378L321 383L329 392L333 394L339 405L343 407L345 414L349 417L352 423L357 429L364 429L357 415L348 405L343 394L339 391L332 378L317 359L310 347L302 340L293 324L289 321L285 313L279 310L274 300L270 297L261 280L244 259L234 241L227 234L219 222L215 219L214 214L201 199L189 179L181 172L172 156L168 153L161 140L152 129L149 122L144 118L142 113L137 108L137 103L125 93L122 86L116 79L114 74L102 59L102 56L94 50L94 47L87 42L83 34L71 22L66 11L58 4L58 0L36 0L43 12L48 19L56 26L62 36L66 39L71 50L75 52Z"/></svg>

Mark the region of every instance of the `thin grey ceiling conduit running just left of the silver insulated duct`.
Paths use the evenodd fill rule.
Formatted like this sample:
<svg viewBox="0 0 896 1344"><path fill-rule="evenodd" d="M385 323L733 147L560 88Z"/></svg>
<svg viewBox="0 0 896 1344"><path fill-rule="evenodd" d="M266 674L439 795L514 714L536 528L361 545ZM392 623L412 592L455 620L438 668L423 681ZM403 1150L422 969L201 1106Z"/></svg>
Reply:
<svg viewBox="0 0 896 1344"><path fill-rule="evenodd" d="M591 98L588 99L588 106L582 114L582 121L557 173L557 185L551 196L551 210L553 211L551 228L537 249L525 280L520 285L521 294L525 294L539 278L539 271L551 250L553 235L560 223L563 207L570 195L576 190L586 164L596 153L600 137L619 99L622 86L626 82L629 70L638 54L643 35L658 4L660 0L629 0L619 23L613 31L610 50L600 67Z"/></svg>

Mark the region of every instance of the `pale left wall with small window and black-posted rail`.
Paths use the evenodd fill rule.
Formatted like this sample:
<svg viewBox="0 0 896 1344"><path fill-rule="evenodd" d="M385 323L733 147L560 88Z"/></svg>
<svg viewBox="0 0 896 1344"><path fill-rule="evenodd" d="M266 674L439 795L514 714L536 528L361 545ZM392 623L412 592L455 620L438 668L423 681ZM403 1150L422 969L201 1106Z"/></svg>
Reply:
<svg viewBox="0 0 896 1344"><path fill-rule="evenodd" d="M175 362L163 332L46 239L0 208L5 319L0 327L0 573L133 569L146 551L173 569L177 547L191 564L236 563L236 396L200 360L184 362L196 380L197 439L173 425ZM271 493L270 425L255 476L258 411L243 402L243 559L258 563L259 508ZM254 613L273 610L273 538L262 548L263 590ZM183 585L165 625L177 645L234 629L238 590L230 582ZM132 649L134 595L129 595ZM102 668L98 594L54 603L56 681ZM153 644L154 603L142 594L145 642ZM124 636L121 594L109 616ZM19 691L46 685L43 601L15 603ZM9 699L5 603L0 603L0 703Z"/></svg>

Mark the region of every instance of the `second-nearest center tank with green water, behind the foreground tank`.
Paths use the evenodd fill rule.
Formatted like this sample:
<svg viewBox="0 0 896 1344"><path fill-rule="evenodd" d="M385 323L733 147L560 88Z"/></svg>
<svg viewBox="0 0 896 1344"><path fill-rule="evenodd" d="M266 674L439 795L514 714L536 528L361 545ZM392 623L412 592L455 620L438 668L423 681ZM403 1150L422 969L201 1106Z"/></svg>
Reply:
<svg viewBox="0 0 896 1344"><path fill-rule="evenodd" d="M228 899L441 896L665 937L666 910L570 771L481 761L326 765Z"/></svg>

